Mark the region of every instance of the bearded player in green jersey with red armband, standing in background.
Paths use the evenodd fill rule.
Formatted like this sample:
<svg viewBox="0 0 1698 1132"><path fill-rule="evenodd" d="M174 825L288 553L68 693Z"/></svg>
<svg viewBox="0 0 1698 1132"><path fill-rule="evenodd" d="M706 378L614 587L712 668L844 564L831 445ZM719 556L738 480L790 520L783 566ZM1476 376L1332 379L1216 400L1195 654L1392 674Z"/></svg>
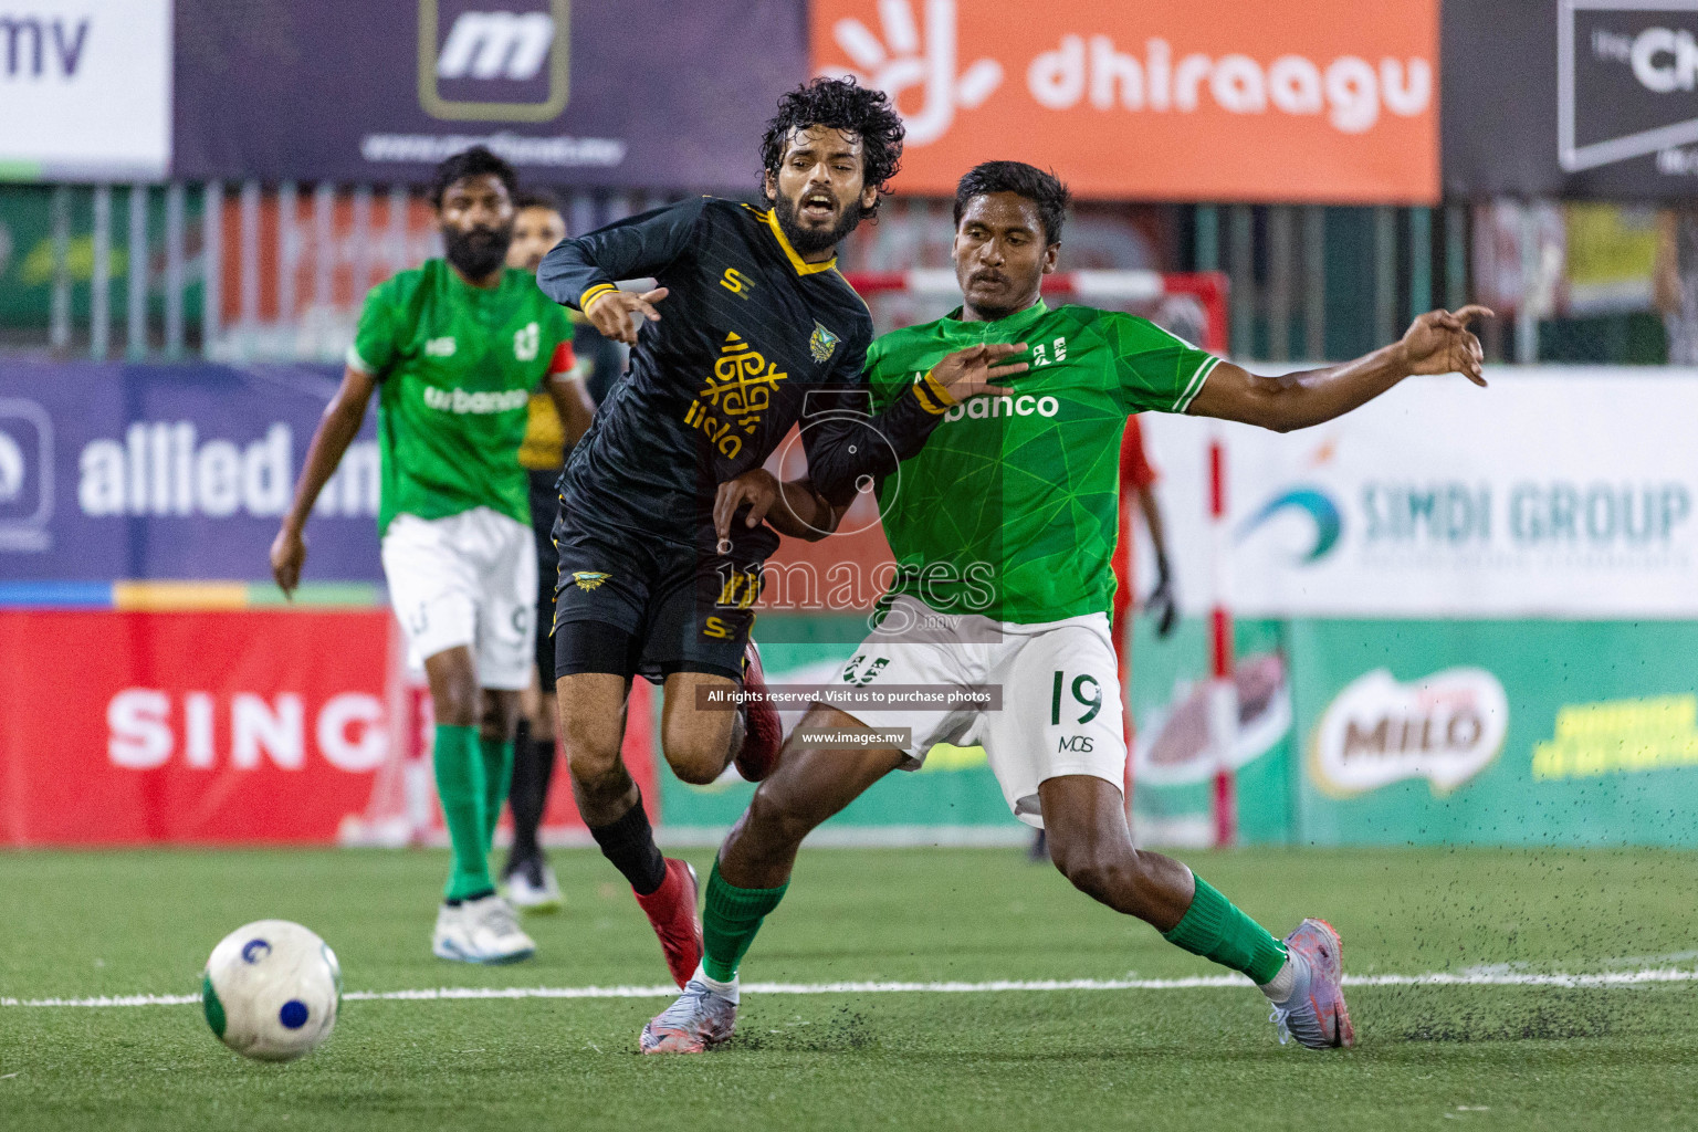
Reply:
<svg viewBox="0 0 1698 1132"><path fill-rule="evenodd" d="M306 563L307 514L377 394L384 575L409 662L430 679L436 793L453 845L431 949L464 962L511 962L535 949L489 876L537 633L518 450L538 387L554 397L569 443L591 414L565 312L528 272L504 266L513 185L508 163L482 146L436 168L431 204L447 258L365 297L341 387L272 543L272 574L287 594Z"/></svg>

